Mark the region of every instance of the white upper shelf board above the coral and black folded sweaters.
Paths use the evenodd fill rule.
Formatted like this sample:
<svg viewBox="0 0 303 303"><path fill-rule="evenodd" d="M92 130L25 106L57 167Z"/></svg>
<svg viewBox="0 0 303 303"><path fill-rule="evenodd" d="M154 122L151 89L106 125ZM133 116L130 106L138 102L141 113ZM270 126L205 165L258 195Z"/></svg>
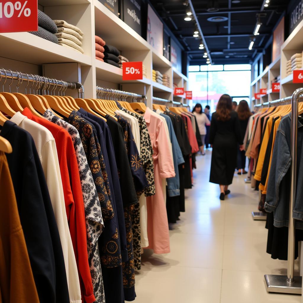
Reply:
<svg viewBox="0 0 303 303"><path fill-rule="evenodd" d="M93 3L96 35L100 35L107 44L115 46L120 51L147 51L151 48L147 41L102 3L98 0L94 0Z"/></svg>

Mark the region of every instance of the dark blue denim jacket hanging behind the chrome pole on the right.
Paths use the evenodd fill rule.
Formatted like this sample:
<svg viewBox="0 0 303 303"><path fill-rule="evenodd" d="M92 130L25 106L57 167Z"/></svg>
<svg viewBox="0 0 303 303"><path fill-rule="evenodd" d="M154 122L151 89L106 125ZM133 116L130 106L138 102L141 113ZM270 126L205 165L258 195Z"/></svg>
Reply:
<svg viewBox="0 0 303 303"><path fill-rule="evenodd" d="M297 192L292 211L296 228L303 229L303 125L298 118L297 145ZM279 125L272 154L265 203L267 212L274 211L274 226L288 226L291 185L291 114L284 117ZM300 173L301 172L301 173Z"/></svg>

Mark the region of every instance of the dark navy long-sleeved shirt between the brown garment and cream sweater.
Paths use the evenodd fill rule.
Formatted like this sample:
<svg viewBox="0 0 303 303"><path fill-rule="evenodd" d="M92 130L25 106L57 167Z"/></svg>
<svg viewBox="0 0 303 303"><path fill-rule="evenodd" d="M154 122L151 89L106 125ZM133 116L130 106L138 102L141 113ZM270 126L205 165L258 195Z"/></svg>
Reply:
<svg viewBox="0 0 303 303"><path fill-rule="evenodd" d="M14 151L6 158L39 301L68 303L60 236L34 140L11 121L4 123L1 136L10 142Z"/></svg>

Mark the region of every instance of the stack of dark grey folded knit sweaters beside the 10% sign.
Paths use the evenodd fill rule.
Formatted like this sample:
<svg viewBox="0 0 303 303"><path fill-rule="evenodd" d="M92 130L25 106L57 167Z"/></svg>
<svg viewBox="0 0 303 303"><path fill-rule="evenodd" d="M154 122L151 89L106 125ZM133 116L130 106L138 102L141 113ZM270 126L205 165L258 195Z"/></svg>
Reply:
<svg viewBox="0 0 303 303"><path fill-rule="evenodd" d="M57 33L55 22L40 10L38 10L38 32L29 33L50 42L58 43L58 38L54 35Z"/></svg>

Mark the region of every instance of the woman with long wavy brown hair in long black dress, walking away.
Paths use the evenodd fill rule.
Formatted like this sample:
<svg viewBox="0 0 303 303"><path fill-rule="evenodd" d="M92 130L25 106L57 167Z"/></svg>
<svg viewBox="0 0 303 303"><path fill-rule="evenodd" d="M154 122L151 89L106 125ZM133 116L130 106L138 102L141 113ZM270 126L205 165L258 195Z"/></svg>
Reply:
<svg viewBox="0 0 303 303"><path fill-rule="evenodd" d="M229 95L222 95L211 117L209 143L212 144L209 181L220 185L220 200L228 195L237 166L237 143L244 149L237 112Z"/></svg>

